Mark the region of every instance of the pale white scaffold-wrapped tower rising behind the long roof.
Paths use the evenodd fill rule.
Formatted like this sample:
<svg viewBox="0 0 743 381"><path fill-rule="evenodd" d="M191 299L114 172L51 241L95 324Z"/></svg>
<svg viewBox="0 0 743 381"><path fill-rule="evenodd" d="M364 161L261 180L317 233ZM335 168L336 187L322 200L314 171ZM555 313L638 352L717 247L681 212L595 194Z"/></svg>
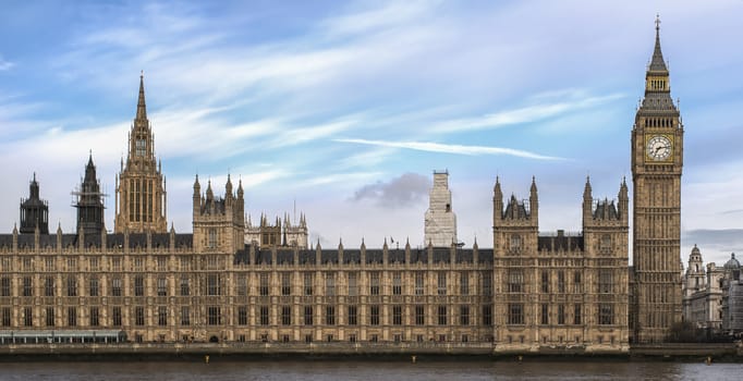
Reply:
<svg viewBox="0 0 743 381"><path fill-rule="evenodd" d="M451 207L449 172L434 171L434 186L425 214L424 242L434 247L451 247L456 241L456 214Z"/></svg>

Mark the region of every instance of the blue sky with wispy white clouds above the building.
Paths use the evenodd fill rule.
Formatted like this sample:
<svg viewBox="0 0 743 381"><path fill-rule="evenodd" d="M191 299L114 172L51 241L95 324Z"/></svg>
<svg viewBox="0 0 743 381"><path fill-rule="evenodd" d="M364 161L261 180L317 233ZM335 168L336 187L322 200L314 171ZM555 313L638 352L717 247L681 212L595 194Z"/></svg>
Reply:
<svg viewBox="0 0 743 381"><path fill-rule="evenodd" d="M253 220L297 211L324 247L423 244L434 170L459 237L490 247L492 185L540 230L581 230L594 196L630 187L630 131L654 20L685 125L682 259L743 250L743 1L9 1L0 13L0 228L34 172L52 228L88 151L110 197L139 71L168 181L191 231L193 179L246 187Z"/></svg>

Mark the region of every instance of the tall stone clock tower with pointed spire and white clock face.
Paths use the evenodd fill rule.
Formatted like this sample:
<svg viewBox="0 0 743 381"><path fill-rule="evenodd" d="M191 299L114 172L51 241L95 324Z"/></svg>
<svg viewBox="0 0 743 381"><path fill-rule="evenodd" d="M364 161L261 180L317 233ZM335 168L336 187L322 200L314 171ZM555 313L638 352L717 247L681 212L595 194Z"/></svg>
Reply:
<svg viewBox="0 0 743 381"><path fill-rule="evenodd" d="M671 99L656 20L645 98L632 128L633 308L635 343L662 342L681 320L681 169L683 125Z"/></svg>

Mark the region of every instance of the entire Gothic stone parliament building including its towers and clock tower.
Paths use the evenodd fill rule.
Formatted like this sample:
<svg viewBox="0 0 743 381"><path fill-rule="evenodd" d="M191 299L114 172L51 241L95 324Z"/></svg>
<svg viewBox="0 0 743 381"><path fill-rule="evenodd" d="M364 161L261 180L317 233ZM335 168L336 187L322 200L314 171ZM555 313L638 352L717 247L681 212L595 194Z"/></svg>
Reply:
<svg viewBox="0 0 743 381"><path fill-rule="evenodd" d="M582 233L541 234L536 180L522 200L496 179L492 248L458 244L447 172L434 173L423 248L324 248L307 242L304 216L254 225L229 176L223 190L196 176L193 233L176 233L141 77L112 233L90 156L75 232L49 231L34 175L20 229L0 235L0 344L479 343L497 354L661 342L681 319L683 127L658 34L631 131L633 210L624 180L616 200L595 199L586 180Z"/></svg>

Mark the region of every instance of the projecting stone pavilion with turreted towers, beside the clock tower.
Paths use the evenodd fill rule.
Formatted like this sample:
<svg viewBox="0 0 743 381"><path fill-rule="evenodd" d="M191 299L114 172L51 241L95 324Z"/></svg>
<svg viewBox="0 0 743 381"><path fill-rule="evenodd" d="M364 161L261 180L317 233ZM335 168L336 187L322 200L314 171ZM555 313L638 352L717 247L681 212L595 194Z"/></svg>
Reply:
<svg viewBox="0 0 743 381"><path fill-rule="evenodd" d="M528 201L494 194L496 351L629 351L626 184L614 204L586 181L577 235L538 233L534 180Z"/></svg>

